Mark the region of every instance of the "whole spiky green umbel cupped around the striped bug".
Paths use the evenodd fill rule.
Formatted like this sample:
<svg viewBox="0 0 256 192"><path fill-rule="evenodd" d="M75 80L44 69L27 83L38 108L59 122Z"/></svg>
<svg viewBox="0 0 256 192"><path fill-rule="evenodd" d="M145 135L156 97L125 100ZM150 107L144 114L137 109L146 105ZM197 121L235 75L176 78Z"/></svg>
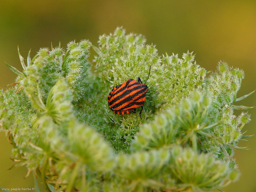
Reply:
<svg viewBox="0 0 256 192"><path fill-rule="evenodd" d="M158 55L145 38L117 28L98 46L71 41L41 48L0 91L0 127L12 158L47 191L203 192L237 180L232 158L250 115L234 110L244 78L219 62L208 74L193 53ZM89 61L90 49L96 52ZM142 112L108 107L112 88L140 77L150 90ZM207 75L208 74L208 75Z"/></svg>

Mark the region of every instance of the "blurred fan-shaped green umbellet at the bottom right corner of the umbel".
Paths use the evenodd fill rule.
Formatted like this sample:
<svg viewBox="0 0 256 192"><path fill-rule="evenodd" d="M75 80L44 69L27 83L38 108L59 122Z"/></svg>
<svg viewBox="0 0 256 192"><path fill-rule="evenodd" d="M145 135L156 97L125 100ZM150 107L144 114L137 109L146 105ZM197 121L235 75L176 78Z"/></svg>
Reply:
<svg viewBox="0 0 256 192"><path fill-rule="evenodd" d="M177 185L193 192L223 187L235 175L226 162L215 160L211 154L198 155L192 149L177 146L172 149L170 169Z"/></svg>

